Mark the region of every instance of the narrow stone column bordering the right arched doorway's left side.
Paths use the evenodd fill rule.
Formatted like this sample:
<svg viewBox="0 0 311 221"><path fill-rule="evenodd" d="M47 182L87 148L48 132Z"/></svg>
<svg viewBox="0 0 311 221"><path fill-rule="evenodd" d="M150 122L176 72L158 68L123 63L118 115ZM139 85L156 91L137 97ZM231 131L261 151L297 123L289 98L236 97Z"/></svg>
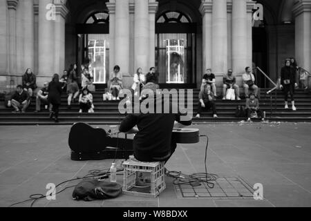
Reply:
<svg viewBox="0 0 311 221"><path fill-rule="evenodd" d="M158 1L149 0L149 67L144 70L149 72L149 68L156 66L156 12L158 11Z"/></svg>

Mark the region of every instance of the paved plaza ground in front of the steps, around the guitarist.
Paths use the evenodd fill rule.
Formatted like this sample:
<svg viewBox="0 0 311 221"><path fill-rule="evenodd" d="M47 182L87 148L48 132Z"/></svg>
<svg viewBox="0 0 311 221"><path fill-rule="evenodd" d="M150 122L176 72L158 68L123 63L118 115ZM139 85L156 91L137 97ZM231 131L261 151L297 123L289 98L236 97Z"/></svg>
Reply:
<svg viewBox="0 0 311 221"><path fill-rule="evenodd" d="M108 128L109 126L102 126ZM249 186L263 184L263 200L253 198L183 198L173 179L158 198L121 195L112 200L77 202L73 188L56 200L38 200L35 207L281 207L311 206L311 124L194 125L209 136L208 172L241 177ZM46 194L46 184L83 177L93 169L108 169L113 160L70 160L70 126L0 126L0 206ZM178 144L169 171L205 172L205 137L198 144ZM122 183L122 173L117 175ZM73 186L68 182L62 188ZM58 190L62 190L58 189ZM212 190L210 190L213 192ZM18 206L30 206L31 202Z"/></svg>

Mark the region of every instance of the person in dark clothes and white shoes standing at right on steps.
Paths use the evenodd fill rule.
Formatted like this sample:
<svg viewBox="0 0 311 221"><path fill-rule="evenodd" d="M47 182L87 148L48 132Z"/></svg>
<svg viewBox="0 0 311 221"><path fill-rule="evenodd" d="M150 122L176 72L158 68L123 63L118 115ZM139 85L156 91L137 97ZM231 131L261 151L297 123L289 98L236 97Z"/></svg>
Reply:
<svg viewBox="0 0 311 221"><path fill-rule="evenodd" d="M292 99L292 111L296 111L294 89L297 86L296 69L291 66L290 59L286 59L285 66L281 69L281 89L284 90L285 109L288 109L288 93L290 93L290 99Z"/></svg>

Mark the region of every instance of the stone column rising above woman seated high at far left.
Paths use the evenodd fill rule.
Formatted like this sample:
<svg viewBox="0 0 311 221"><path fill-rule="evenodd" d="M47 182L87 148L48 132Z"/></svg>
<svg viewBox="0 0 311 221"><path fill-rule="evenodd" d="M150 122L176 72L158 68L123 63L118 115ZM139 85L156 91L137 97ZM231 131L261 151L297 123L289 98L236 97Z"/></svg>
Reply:
<svg viewBox="0 0 311 221"><path fill-rule="evenodd" d="M35 68L35 12L33 0L21 1L23 8L23 69Z"/></svg>

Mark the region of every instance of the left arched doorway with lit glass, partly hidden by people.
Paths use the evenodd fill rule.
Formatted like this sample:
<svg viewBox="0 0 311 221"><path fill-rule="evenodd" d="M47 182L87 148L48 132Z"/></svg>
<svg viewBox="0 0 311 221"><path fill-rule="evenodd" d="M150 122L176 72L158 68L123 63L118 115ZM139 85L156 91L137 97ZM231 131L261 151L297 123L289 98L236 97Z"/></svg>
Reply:
<svg viewBox="0 0 311 221"><path fill-rule="evenodd" d="M89 64L94 84L106 84L109 78L109 13L93 12L76 25L77 64Z"/></svg>

